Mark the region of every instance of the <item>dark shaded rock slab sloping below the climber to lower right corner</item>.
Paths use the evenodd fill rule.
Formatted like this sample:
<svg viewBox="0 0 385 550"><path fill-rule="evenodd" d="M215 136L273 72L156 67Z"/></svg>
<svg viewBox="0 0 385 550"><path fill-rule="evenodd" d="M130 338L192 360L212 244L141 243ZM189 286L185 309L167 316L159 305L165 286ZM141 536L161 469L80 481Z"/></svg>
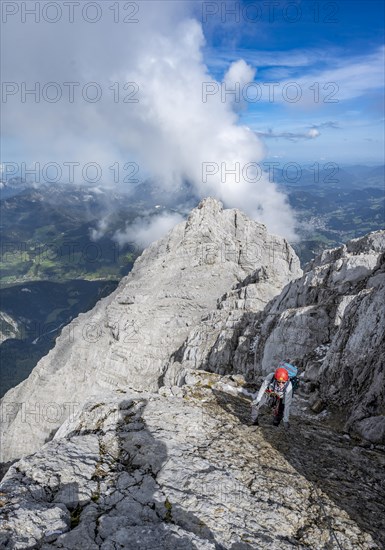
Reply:
<svg viewBox="0 0 385 550"><path fill-rule="evenodd" d="M250 426L251 402L213 390L217 403ZM294 397L295 399L295 397ZM263 409L262 409L263 410ZM385 548L385 456L358 446L348 436L321 425L315 418L291 416L290 429L272 425L268 410L260 415L259 430L297 470L345 510L363 531ZM321 498L321 496L320 496ZM375 518L375 520L373 520Z"/></svg>

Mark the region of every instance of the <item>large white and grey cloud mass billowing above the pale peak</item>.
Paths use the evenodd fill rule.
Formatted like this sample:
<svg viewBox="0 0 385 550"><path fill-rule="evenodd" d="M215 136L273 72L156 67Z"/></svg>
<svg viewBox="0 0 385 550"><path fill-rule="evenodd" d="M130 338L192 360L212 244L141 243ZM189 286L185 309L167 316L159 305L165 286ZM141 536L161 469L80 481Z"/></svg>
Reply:
<svg viewBox="0 0 385 550"><path fill-rule="evenodd" d="M145 1L139 6L139 23L131 25L115 24L108 9L93 25L29 24L29 19L7 24L4 80L80 86L73 103L64 97L56 103L28 98L23 103L20 94L10 96L6 139L18 140L28 158L42 163L80 162L82 167L97 162L101 183L111 181L113 165L119 166L121 183L131 175L125 163L135 161L142 178L151 175L168 190L188 180L200 196L216 196L293 239L295 221L286 197L258 170L249 169L263 159L263 143L239 124L231 102L221 101L220 94L202 101L203 83L218 83L203 60L204 36L193 18L194 2ZM227 76L243 81L253 73L239 60ZM81 90L88 82L100 86L100 101L83 99ZM126 82L135 85L124 90ZM117 103L114 86L120 92ZM139 102L124 102L130 92ZM217 168L207 177L205 163Z"/></svg>

